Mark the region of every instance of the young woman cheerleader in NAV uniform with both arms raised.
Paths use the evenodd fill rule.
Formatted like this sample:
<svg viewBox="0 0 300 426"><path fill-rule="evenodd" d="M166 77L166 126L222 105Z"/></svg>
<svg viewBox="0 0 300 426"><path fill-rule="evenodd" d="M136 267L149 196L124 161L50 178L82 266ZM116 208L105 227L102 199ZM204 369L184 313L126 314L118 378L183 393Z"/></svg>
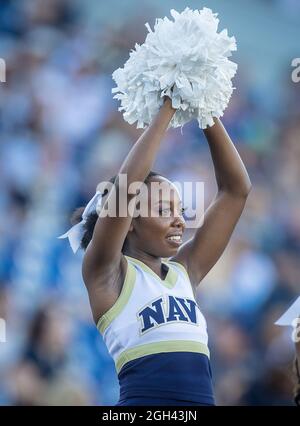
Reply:
<svg viewBox="0 0 300 426"><path fill-rule="evenodd" d="M119 208L116 217L90 213L81 240L82 273L93 317L120 382L117 405L215 404L206 322L195 294L225 249L251 183L232 141L215 119L204 134L218 192L203 225L183 244L185 222L176 188L165 177L150 173L175 111L166 97L115 179L118 193L138 181L147 187L164 183L170 195L151 199L151 191L141 191L141 199L148 197L150 210L156 212L148 217L122 217ZM127 175L126 185L120 183L121 174ZM102 199L102 208L109 205L111 194ZM133 197L128 196L128 204Z"/></svg>

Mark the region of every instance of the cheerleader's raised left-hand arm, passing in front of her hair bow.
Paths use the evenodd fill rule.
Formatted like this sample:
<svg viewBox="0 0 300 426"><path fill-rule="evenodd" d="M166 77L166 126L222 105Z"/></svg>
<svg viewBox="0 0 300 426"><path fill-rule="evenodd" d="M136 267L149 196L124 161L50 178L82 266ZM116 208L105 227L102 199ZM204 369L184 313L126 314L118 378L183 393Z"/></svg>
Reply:
<svg viewBox="0 0 300 426"><path fill-rule="evenodd" d="M126 187L121 187L123 183L120 183L121 180L119 181L117 178L116 199L118 199L118 191L128 193L131 183L144 182L175 111L172 108L171 100L166 98L156 117L134 144L119 170L118 176L127 175L127 183ZM113 196L111 191L103 208L109 205ZM133 195L127 196L127 205L132 198ZM95 281L99 274L110 276L120 265L122 246L132 218L129 215L121 217L118 205L116 213L117 217L100 217L96 222L93 238L87 247L83 261L82 271L86 282Z"/></svg>

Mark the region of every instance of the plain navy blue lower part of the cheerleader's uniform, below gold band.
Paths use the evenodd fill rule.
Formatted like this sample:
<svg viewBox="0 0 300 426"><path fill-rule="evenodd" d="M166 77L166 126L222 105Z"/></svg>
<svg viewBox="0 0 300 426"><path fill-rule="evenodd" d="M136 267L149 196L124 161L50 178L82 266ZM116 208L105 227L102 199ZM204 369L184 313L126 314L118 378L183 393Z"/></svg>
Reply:
<svg viewBox="0 0 300 426"><path fill-rule="evenodd" d="M119 405L215 405L209 358L163 352L127 362L118 375Z"/></svg>

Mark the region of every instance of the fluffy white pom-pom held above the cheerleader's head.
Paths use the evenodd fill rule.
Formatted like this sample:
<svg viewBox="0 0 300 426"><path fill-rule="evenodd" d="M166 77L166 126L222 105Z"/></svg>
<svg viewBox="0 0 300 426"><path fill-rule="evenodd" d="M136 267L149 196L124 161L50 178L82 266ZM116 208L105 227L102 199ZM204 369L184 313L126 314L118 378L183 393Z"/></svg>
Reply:
<svg viewBox="0 0 300 426"><path fill-rule="evenodd" d="M205 129L223 115L232 95L237 65L228 57L236 41L227 30L217 32L217 14L208 8L170 13L174 21L156 19L154 31L145 24L145 43L136 44L124 68L113 72L112 93L121 101L124 119L137 121L137 128L148 125L169 96L177 110L169 127L195 118Z"/></svg>

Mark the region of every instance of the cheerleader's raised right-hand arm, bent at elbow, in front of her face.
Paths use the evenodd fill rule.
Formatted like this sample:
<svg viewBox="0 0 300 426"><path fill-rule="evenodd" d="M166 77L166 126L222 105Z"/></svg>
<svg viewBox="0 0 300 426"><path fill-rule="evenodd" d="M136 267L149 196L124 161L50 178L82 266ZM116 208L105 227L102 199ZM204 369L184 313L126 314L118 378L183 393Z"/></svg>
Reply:
<svg viewBox="0 0 300 426"><path fill-rule="evenodd" d="M204 130L211 152L218 192L206 210L203 225L179 250L174 260L188 270L196 287L223 253L244 209L251 182L246 168L221 121Z"/></svg>

